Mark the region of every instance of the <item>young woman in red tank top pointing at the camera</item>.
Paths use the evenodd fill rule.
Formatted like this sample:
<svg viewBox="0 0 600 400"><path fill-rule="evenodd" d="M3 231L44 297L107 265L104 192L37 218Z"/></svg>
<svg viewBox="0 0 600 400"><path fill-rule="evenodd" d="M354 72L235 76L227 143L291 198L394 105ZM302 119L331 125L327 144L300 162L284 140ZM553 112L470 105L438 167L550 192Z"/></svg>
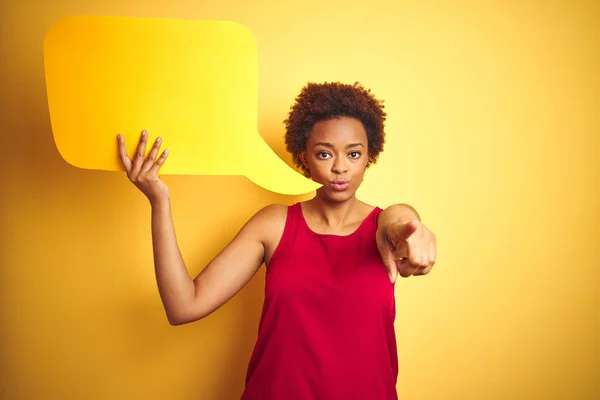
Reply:
<svg viewBox="0 0 600 400"><path fill-rule="evenodd" d="M147 133L129 179L149 199L158 289L173 325L197 321L227 302L264 263L265 300L242 399L397 399L394 283L425 275L435 237L407 205L385 210L356 198L383 150L383 104L360 84L308 84L286 124L286 144L316 196L258 211L195 278L179 252L169 191L158 173L160 138Z"/></svg>

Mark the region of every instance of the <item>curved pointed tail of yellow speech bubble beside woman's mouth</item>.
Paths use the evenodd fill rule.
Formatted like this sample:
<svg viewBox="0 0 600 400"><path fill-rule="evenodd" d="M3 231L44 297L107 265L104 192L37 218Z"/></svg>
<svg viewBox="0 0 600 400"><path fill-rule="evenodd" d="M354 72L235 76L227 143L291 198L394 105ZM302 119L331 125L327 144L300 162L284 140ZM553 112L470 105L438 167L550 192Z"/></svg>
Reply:
<svg viewBox="0 0 600 400"><path fill-rule="evenodd" d="M244 175L255 184L275 193L302 195L313 192L322 185L304 177L287 165L264 142L252 145L252 162L243 168Z"/></svg>

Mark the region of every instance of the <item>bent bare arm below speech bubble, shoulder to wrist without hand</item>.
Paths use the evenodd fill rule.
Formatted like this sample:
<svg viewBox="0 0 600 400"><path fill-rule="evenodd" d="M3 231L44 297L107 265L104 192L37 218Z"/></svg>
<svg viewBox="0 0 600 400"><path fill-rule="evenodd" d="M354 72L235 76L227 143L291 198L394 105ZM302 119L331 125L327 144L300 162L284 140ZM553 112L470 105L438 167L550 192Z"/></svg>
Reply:
<svg viewBox="0 0 600 400"><path fill-rule="evenodd" d="M181 325L206 317L252 279L263 264L265 235L281 215L281 207L271 205L256 213L192 280L177 245L168 201L153 205L156 280L169 323Z"/></svg>

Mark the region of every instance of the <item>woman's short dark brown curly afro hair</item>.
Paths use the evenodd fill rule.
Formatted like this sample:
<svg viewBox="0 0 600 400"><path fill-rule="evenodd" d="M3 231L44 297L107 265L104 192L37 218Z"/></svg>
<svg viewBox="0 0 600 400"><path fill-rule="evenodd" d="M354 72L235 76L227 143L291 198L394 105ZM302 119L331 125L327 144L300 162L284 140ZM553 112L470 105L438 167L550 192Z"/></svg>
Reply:
<svg viewBox="0 0 600 400"><path fill-rule="evenodd" d="M302 168L304 175L310 171L302 164L300 153L306 151L306 140L313 126L324 120L352 117L362 122L367 132L369 160L367 167L377 162L385 143L385 117L383 100L378 100L360 83L353 85L340 82L309 82L296 102L290 107L286 127L285 144L292 154L294 164Z"/></svg>

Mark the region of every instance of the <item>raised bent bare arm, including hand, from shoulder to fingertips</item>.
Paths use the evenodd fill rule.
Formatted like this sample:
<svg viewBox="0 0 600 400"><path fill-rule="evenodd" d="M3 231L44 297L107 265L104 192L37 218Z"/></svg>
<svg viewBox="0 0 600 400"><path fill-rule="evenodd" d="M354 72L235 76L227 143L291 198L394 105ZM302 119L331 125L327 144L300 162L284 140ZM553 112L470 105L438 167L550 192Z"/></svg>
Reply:
<svg viewBox="0 0 600 400"><path fill-rule="evenodd" d="M148 135L144 131L131 160L119 135L119 154L128 178L150 201L158 290L167 319L172 325L180 325L215 311L252 279L263 263L268 232L273 232L274 223L281 224L285 206L272 205L259 211L192 280L177 244L169 190L158 177L168 152L163 152L157 159L161 144L157 139L144 159L147 140Z"/></svg>

